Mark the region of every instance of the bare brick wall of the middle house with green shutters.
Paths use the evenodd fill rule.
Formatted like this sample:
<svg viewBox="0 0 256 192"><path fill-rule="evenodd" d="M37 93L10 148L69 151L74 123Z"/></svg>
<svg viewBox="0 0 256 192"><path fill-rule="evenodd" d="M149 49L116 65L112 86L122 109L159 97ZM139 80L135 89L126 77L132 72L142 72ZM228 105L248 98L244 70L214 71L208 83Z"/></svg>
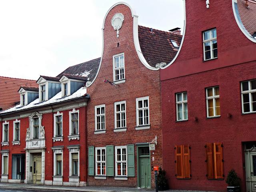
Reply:
<svg viewBox="0 0 256 192"><path fill-rule="evenodd" d="M122 13L124 22L119 38L111 26L114 14ZM117 43L119 42L119 47ZM126 82L112 86L103 82L104 78L113 81L113 55L124 52ZM130 9L120 4L112 8L106 16L104 24L104 53L102 64L95 82L87 88L90 101L87 106L87 145L103 147L106 145L123 146L142 142L151 142L158 138L156 150L151 152L151 166L162 167L162 132L160 108L160 77L159 71L147 69L139 60L133 40L133 18ZM149 96L150 129L135 130L136 127L136 98ZM114 132L114 102L126 100L126 132ZM94 134L94 106L106 105L106 133ZM87 149L88 152L88 149ZM88 156L88 154L87 154ZM89 185L130 186L137 187L137 152L135 145L135 177L128 180L96 180L88 176ZM154 161L152 161L154 157ZM88 158L88 157L87 157ZM151 172L151 186L154 187L154 174Z"/></svg>

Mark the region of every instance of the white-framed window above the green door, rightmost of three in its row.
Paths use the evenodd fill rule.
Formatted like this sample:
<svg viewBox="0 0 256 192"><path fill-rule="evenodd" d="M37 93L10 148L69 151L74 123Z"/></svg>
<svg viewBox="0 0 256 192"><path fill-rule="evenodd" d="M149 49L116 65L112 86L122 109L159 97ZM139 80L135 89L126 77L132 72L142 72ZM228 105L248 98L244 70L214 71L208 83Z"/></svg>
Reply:
<svg viewBox="0 0 256 192"><path fill-rule="evenodd" d="M149 125L149 97L136 98L137 126Z"/></svg>

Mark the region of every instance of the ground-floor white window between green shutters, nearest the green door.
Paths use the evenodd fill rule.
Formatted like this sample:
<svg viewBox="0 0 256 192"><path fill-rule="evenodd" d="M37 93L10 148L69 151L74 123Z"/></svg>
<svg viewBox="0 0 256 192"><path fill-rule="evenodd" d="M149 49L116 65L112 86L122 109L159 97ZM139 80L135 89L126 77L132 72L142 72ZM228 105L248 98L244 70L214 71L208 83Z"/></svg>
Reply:
<svg viewBox="0 0 256 192"><path fill-rule="evenodd" d="M116 146L116 176L127 176L126 146Z"/></svg>

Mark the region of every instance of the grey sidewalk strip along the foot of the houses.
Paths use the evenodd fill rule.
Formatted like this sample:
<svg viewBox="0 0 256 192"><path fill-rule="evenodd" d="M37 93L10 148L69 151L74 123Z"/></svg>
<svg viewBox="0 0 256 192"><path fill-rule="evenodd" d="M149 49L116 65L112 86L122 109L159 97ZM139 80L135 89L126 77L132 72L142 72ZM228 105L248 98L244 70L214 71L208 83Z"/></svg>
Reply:
<svg viewBox="0 0 256 192"><path fill-rule="evenodd" d="M47 192L154 192L154 189L140 189L140 188L125 188L125 187L105 187L105 186L51 186L41 184L24 184L24 183L0 183L0 190L27 190L27 191L47 191ZM188 192L185 190L168 190L166 192ZM202 192L202 191L189 191Z"/></svg>

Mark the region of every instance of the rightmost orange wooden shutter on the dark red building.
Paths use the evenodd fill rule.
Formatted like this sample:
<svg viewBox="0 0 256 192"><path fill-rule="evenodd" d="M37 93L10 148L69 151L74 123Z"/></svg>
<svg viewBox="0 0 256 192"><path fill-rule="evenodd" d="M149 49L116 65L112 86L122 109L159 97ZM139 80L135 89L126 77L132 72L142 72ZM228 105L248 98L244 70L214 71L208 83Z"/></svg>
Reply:
<svg viewBox="0 0 256 192"><path fill-rule="evenodd" d="M223 179L223 150L222 143L214 143L214 176Z"/></svg>

